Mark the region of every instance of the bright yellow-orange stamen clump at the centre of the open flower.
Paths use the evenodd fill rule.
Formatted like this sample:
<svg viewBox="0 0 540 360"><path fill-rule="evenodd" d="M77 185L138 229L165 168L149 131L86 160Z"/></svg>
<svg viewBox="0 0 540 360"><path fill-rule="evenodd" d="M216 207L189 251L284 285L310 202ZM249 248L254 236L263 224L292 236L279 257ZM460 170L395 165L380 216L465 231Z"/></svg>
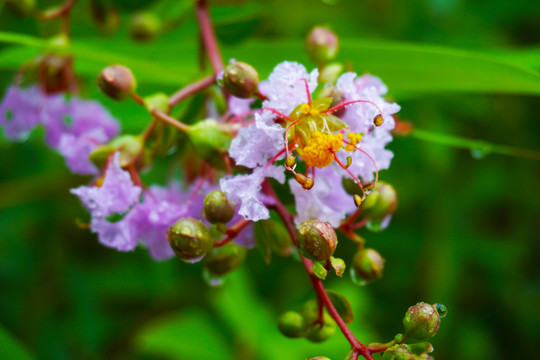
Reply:
<svg viewBox="0 0 540 360"><path fill-rule="evenodd" d="M334 153L343 146L343 134L329 134L315 131L303 149L297 149L307 166L323 168L332 163Z"/></svg>

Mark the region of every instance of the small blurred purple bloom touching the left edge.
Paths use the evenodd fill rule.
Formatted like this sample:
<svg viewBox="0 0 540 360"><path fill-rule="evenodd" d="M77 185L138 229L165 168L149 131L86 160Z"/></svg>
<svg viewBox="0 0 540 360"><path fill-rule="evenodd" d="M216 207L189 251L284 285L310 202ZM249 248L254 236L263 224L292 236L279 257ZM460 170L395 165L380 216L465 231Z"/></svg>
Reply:
<svg viewBox="0 0 540 360"><path fill-rule="evenodd" d="M11 86L0 104L0 127L10 140L25 140L40 123L46 96L37 86Z"/></svg>

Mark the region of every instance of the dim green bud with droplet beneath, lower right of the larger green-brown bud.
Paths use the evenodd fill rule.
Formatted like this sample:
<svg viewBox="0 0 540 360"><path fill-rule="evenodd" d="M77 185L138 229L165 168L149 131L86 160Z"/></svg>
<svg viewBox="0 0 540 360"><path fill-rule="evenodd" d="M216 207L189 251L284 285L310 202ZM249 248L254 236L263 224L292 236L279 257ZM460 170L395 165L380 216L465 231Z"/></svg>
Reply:
<svg viewBox="0 0 540 360"><path fill-rule="evenodd" d="M245 247L233 243L215 247L204 257L204 267L213 275L223 276L242 264L246 252Z"/></svg>

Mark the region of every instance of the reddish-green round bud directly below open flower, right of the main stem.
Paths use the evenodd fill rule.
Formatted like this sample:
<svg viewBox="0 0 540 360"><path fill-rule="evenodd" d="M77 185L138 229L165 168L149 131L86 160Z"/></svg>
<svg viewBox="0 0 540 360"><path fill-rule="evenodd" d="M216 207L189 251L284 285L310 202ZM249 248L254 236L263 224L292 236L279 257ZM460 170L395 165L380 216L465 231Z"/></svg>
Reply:
<svg viewBox="0 0 540 360"><path fill-rule="evenodd" d="M311 260L327 260L334 254L337 235L334 228L320 220L304 221L298 228L298 250Z"/></svg>

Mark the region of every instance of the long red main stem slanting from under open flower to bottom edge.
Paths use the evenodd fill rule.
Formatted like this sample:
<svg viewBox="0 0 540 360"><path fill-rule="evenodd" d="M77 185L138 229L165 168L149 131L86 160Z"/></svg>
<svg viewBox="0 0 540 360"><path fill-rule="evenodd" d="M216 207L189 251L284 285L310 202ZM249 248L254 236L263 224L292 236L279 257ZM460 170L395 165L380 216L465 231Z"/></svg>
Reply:
<svg viewBox="0 0 540 360"><path fill-rule="evenodd" d="M277 197L274 189L268 183L268 181L263 182L263 191L274 198L275 204L273 205L274 210L278 213L281 220L283 220L283 223L285 224L287 231L289 232L289 235L291 236L291 239L293 240L293 243L296 245L296 229L294 228L293 222L292 222L292 214L285 208L283 203L279 200ZM326 290L324 289L324 285L322 284L321 279L319 279L317 276L313 274L312 267L313 263L311 260L306 259L305 257L300 255L300 258L302 259L302 263L304 264L304 268L306 272L308 273L309 280L311 281L311 284L313 286L313 289L315 290L315 293L317 294L317 298L322 299L324 305L328 309L328 312L332 316L332 318L336 321L338 324L341 332L347 339L347 341L351 344L353 349L355 349L355 352L353 353L353 359L358 354L361 354L363 357L365 357L367 360L373 360L373 357L371 356L370 351L368 350L367 346L362 344L358 339L354 336L352 331L347 327L347 324L345 324L345 321L341 318L339 313L337 312L336 308L334 307L334 304L332 304L332 301L328 297L328 294L326 293Z"/></svg>

